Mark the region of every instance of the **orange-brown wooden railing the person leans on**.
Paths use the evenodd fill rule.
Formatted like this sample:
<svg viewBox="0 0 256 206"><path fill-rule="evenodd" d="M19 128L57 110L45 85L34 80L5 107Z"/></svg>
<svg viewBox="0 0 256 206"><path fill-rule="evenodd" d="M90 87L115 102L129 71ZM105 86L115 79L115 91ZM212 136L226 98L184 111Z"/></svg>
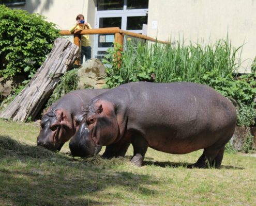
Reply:
<svg viewBox="0 0 256 206"><path fill-rule="evenodd" d="M165 42L165 41L159 41L154 38L147 37L145 35L141 35L140 33L125 31L125 30L120 29L119 27L99 28L99 29L83 29L83 30L76 30L72 33L69 30L61 30L60 33L63 36L73 35L74 36L74 44L76 44L77 46L80 46L81 35L99 35L99 34L108 34L108 33L114 33L114 35L115 35L114 42L121 45L121 49L123 49L123 47L124 47L124 36L125 35L135 37L135 38L144 39L144 40L149 40L149 41L153 41L153 42L157 41L157 42L164 43L164 44L169 43L169 42Z"/></svg>

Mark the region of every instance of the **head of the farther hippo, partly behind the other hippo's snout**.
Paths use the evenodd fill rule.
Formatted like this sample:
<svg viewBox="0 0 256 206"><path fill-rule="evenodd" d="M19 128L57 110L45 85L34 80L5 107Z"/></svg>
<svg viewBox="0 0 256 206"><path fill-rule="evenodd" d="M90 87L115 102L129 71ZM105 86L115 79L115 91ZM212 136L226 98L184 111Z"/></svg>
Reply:
<svg viewBox="0 0 256 206"><path fill-rule="evenodd" d="M50 150L61 150L65 142L76 132L72 118L66 112L52 108L41 119L37 145Z"/></svg>

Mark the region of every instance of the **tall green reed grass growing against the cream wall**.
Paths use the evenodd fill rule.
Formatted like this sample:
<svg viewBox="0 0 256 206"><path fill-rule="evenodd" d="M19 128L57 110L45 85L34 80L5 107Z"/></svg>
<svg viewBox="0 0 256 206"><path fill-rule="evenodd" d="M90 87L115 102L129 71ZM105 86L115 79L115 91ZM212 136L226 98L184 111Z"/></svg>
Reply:
<svg viewBox="0 0 256 206"><path fill-rule="evenodd" d="M235 73L240 66L240 52L242 46L234 48L228 38L214 44L184 40L174 44L128 41L122 52L120 68L116 68L114 58L106 56L105 60L112 65L109 76L113 80L119 75L122 83L147 80L152 74L155 82L201 82L207 72L214 71L216 77Z"/></svg>

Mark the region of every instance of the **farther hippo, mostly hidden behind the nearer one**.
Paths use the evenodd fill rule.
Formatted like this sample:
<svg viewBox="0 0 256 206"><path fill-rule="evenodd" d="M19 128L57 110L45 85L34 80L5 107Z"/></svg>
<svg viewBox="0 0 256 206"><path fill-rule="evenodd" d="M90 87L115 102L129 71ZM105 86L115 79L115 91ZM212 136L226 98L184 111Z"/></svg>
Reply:
<svg viewBox="0 0 256 206"><path fill-rule="evenodd" d="M50 150L61 150L76 132L80 124L82 108L93 97L109 89L85 89L72 91L52 104L42 115L37 145ZM101 146L97 146L100 150Z"/></svg>

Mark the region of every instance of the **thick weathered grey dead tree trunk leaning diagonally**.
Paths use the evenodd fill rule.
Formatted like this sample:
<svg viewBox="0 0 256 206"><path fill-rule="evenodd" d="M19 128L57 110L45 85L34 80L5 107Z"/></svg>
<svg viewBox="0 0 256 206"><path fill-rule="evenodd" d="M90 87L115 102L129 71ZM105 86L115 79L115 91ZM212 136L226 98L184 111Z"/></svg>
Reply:
<svg viewBox="0 0 256 206"><path fill-rule="evenodd" d="M0 114L2 118L25 122L34 119L55 89L59 77L76 60L79 47L64 38L58 38L48 58L22 92Z"/></svg>

